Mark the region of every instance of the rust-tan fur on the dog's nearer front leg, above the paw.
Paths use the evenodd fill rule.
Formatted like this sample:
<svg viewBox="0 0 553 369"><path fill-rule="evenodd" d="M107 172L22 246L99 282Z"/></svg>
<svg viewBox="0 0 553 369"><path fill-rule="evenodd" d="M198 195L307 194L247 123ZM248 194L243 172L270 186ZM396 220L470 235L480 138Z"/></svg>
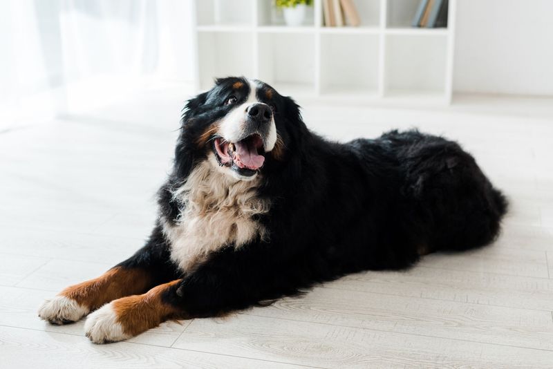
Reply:
<svg viewBox="0 0 553 369"><path fill-rule="evenodd" d="M182 279L158 285L139 296L128 296L113 301L113 312L117 315L117 322L120 323L124 334L135 336L157 327L168 319L183 318L178 308L162 301L162 294L180 281Z"/></svg>

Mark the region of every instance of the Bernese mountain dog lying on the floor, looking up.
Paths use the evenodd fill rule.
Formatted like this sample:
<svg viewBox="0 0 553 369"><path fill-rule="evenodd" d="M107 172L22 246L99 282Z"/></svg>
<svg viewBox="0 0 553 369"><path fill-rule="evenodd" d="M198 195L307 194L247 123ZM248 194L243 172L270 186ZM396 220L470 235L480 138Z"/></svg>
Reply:
<svg viewBox="0 0 553 369"><path fill-rule="evenodd" d="M336 122L336 124L345 124ZM217 79L189 100L146 245L39 316L94 343L221 316L367 269L490 243L507 200L456 142L418 131L331 142L290 97Z"/></svg>

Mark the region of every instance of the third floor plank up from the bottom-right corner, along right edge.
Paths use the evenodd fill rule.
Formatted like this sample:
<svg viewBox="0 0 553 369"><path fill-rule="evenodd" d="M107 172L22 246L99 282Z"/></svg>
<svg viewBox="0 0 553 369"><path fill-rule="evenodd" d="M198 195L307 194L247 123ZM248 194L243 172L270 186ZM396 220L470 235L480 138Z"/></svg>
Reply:
<svg viewBox="0 0 553 369"><path fill-rule="evenodd" d="M324 286L458 301L510 308L551 310L553 282L548 278L506 276L415 266L403 272L364 272Z"/></svg>

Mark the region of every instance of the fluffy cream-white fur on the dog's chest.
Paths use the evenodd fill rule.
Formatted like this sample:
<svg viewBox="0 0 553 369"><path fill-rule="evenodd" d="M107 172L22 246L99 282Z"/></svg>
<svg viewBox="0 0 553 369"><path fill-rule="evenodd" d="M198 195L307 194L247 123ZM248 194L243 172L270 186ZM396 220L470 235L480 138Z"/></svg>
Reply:
<svg viewBox="0 0 553 369"><path fill-rule="evenodd" d="M209 160L194 168L174 192L183 205L177 223L162 222L171 242L171 258L182 271L194 269L221 247L241 247L265 236L263 225L252 219L270 207L256 196L258 185L259 178L235 180L214 169Z"/></svg>

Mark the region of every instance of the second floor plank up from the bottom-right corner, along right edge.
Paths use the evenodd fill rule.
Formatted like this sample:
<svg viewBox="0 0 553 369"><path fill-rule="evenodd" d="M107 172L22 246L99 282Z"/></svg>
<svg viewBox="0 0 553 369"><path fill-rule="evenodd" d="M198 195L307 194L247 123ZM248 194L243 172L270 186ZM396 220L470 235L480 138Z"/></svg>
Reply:
<svg viewBox="0 0 553 369"><path fill-rule="evenodd" d="M316 288L245 314L553 351L550 311Z"/></svg>

